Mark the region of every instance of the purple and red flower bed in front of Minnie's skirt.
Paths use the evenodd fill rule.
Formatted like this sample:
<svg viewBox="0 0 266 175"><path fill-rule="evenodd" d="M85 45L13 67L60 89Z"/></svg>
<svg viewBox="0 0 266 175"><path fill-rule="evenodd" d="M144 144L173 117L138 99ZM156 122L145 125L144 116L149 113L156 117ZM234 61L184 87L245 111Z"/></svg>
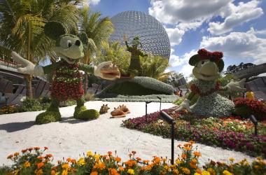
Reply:
<svg viewBox="0 0 266 175"><path fill-rule="evenodd" d="M186 111L173 113L174 109L163 110L172 113L176 120L174 137L183 141L195 140L208 146L220 146L241 151L248 155L261 155L266 158L266 123L258 123L258 136L254 135L254 126L249 120L240 117L198 118ZM150 113L148 122L145 116L123 121L122 126L132 130L141 130L162 137L170 137L171 127L160 119L160 113Z"/></svg>

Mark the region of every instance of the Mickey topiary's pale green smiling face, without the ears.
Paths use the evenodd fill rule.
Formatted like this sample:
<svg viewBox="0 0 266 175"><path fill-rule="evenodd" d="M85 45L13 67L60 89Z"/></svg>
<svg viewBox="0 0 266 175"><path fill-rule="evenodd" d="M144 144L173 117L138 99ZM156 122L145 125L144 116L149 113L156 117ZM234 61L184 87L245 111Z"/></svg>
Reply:
<svg viewBox="0 0 266 175"><path fill-rule="evenodd" d="M80 57L84 57L83 43L78 36L71 34L57 38L55 52L69 64L74 64Z"/></svg>

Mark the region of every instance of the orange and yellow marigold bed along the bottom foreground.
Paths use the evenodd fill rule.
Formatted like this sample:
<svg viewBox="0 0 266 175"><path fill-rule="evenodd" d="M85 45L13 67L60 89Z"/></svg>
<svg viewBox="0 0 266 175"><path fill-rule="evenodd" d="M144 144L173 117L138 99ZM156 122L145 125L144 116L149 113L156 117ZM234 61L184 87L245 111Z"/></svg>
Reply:
<svg viewBox="0 0 266 175"><path fill-rule="evenodd" d="M179 145L182 154L170 164L167 158L153 156L153 160L141 160L137 152L130 153L130 160L121 162L118 155L109 151L106 155L99 155L88 151L83 158L78 160L67 158L58 161L57 165L52 164L52 155L44 154L39 147L22 150L22 154L14 153L8 155L13 160L11 167L0 167L0 174L263 174L266 171L266 163L262 158L257 158L250 165L246 160L234 162L230 158L228 163L214 162L200 167L198 158L199 151L193 150L194 141L189 141L183 146Z"/></svg>

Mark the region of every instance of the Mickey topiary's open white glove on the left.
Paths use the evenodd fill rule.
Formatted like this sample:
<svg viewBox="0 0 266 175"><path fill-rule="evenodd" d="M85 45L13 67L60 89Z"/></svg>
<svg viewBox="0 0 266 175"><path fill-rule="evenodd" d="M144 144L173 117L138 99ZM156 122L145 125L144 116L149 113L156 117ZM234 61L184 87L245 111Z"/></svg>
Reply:
<svg viewBox="0 0 266 175"><path fill-rule="evenodd" d="M11 56L15 62L18 62L18 72L34 76L44 76L43 67L36 66L32 62L29 62L27 59L18 55L16 52L11 52Z"/></svg>

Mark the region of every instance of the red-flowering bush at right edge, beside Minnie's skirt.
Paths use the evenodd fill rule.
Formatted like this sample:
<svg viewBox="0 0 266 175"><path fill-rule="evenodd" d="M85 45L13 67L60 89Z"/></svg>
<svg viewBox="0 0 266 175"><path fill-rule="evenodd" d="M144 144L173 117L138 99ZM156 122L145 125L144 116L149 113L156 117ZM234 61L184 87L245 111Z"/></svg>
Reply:
<svg viewBox="0 0 266 175"><path fill-rule="evenodd" d="M266 120L266 104L258 101L258 99L236 98L235 113L237 115L248 118L254 115L257 120Z"/></svg>

